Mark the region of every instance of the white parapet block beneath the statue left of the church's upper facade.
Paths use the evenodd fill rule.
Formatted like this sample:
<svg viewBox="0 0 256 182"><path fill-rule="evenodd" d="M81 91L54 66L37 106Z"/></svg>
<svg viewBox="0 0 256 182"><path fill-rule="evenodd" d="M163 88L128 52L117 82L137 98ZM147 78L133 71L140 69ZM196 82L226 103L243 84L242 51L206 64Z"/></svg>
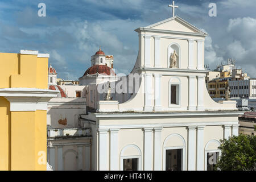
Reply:
<svg viewBox="0 0 256 182"><path fill-rule="evenodd" d="M97 112L114 112L119 111L118 101L98 101Z"/></svg>

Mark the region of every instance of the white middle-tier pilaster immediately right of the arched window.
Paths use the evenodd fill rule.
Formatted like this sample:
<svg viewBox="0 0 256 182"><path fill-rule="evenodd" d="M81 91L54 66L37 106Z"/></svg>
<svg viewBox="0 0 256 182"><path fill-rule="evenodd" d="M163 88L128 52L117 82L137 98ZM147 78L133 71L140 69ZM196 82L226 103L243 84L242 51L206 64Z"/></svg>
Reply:
<svg viewBox="0 0 256 182"><path fill-rule="evenodd" d="M196 76L189 76L188 82L189 90L189 102L188 110L196 110ZM200 88L202 89L202 88Z"/></svg>

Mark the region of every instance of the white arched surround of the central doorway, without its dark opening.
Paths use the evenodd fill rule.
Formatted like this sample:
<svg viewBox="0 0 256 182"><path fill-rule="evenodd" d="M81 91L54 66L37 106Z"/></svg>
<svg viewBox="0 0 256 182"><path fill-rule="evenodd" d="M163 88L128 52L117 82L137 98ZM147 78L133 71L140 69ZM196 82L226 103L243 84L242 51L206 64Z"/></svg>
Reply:
<svg viewBox="0 0 256 182"><path fill-rule="evenodd" d="M166 151L181 149L181 170L185 170L185 139L180 134L171 134L163 143L163 170L166 170Z"/></svg>

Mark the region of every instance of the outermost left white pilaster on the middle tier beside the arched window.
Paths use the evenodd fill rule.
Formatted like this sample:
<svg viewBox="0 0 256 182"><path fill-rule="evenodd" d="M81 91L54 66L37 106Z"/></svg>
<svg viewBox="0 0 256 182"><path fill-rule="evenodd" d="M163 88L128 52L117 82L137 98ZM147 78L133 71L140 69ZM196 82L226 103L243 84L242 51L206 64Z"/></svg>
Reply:
<svg viewBox="0 0 256 182"><path fill-rule="evenodd" d="M145 106L144 111L152 111L152 74L145 75Z"/></svg>

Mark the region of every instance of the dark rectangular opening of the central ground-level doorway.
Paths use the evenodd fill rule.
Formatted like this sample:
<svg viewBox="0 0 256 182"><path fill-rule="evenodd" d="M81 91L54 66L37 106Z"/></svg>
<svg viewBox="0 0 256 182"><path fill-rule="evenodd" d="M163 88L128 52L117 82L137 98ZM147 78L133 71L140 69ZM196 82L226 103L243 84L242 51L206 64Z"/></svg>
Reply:
<svg viewBox="0 0 256 182"><path fill-rule="evenodd" d="M183 149L166 150L166 171L181 171Z"/></svg>

